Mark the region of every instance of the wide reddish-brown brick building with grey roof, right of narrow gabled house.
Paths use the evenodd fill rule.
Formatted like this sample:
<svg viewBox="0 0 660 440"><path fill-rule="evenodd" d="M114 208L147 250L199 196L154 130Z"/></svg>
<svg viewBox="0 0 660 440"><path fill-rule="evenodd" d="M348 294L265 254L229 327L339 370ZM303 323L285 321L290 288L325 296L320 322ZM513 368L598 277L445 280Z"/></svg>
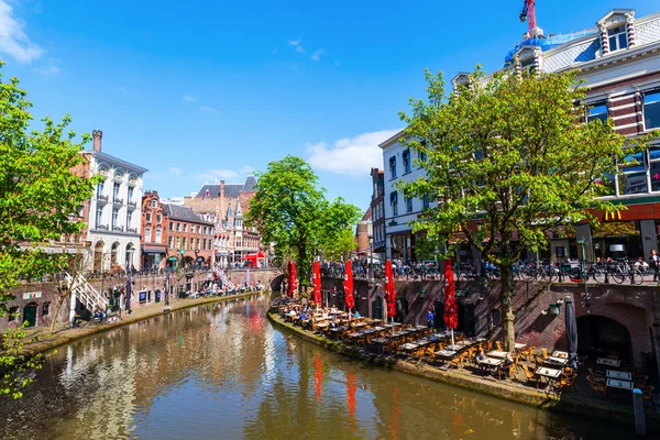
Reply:
<svg viewBox="0 0 660 440"><path fill-rule="evenodd" d="M167 258L186 265L213 264L215 219L179 205L163 204L162 210Z"/></svg>

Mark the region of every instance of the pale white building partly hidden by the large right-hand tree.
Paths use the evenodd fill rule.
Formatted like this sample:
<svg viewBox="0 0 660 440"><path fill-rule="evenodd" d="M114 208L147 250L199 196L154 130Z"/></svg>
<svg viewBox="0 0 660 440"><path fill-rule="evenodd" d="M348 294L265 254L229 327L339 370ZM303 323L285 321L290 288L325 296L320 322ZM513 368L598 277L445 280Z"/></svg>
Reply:
<svg viewBox="0 0 660 440"><path fill-rule="evenodd" d="M415 160L426 161L403 145L399 139L405 136L400 131L378 146L383 150L383 169L385 183L385 252L388 258L402 258L406 262L416 260L413 252L417 234L409 224L426 208L437 206L437 201L418 198L406 198L396 188L399 182L414 182L425 175L425 170L415 164Z"/></svg>

